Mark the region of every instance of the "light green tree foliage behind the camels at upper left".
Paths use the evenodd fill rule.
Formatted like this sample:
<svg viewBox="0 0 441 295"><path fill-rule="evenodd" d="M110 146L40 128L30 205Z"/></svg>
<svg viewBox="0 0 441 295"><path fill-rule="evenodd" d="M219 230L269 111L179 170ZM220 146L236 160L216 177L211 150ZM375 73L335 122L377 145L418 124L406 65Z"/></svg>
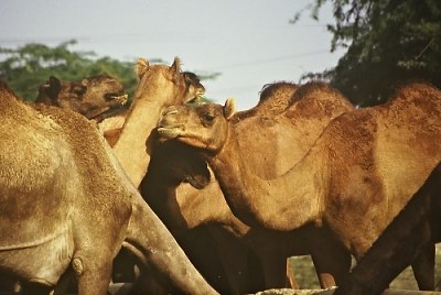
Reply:
<svg viewBox="0 0 441 295"><path fill-rule="evenodd" d="M94 52L74 52L69 46L75 40L55 47L44 44L25 44L11 50L0 47L0 79L8 83L14 91L26 100L34 100L40 85L49 77L62 80L82 80L96 75L110 75L125 86L129 98L133 97L138 85L135 62L120 62L108 56L97 57ZM150 62L162 62L149 58ZM217 77L217 73L200 75L201 80Z"/></svg>

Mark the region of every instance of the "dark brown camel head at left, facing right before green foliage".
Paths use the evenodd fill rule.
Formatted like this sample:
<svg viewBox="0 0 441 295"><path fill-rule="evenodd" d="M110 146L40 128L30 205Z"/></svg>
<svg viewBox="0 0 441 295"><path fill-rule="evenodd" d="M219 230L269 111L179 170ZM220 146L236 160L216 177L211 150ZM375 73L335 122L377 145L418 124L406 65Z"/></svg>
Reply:
<svg viewBox="0 0 441 295"><path fill-rule="evenodd" d="M80 83L51 76L40 87L35 102L71 109L99 122L123 110L127 98L122 84L107 75L84 78Z"/></svg>

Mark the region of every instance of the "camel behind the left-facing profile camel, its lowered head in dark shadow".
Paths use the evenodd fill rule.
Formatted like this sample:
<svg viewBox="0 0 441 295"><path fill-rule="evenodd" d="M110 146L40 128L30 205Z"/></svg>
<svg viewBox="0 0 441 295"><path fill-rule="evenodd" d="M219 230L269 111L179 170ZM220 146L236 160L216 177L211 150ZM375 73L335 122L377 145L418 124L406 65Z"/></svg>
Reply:
<svg viewBox="0 0 441 295"><path fill-rule="evenodd" d="M280 89L279 84L276 87ZM291 85L289 88L291 90L288 98L291 97L292 89L297 89L297 87ZM266 89L270 89L270 87ZM244 112L241 112L239 119L237 116L232 119L235 131L244 134L239 138L239 146L241 151L245 151L247 163L251 165L254 172L265 178L286 172L289 168L287 162L299 161L331 119L352 109L351 103L340 92L321 83L301 86L292 97L295 103L288 107L282 114L280 114L280 108L279 111L275 111L278 109L276 106L280 105L278 100L280 100L280 95L277 95L275 100L272 97L265 100L265 103L272 101L275 107L261 107L263 103L259 102L255 109L246 111L247 116L243 116ZM288 101L289 99L286 99L284 103ZM268 112L266 113L265 110ZM276 116L276 113L280 116ZM258 132L260 138L259 134L256 134ZM326 232L324 230L309 227L297 231L294 236L250 229L233 216L215 179L201 190L193 189L187 184L181 184L182 181L185 181L192 184L196 183L196 186L197 183L202 183L200 186L205 186L206 181L201 182L191 175L192 165L196 166L198 155L192 155L194 151L184 154L184 146L176 148L176 145L179 143L165 142L154 149L146 182L141 184L141 192L144 197L148 196L148 204L170 229L182 230L213 222L227 228L235 236L240 237L247 248L258 253L265 264L266 287L283 286L286 258L291 254L312 253L315 256L314 261L318 263L318 272L321 273L321 283L324 287L335 285L334 280L329 276L330 274L342 276L345 271L348 271L348 255L345 259L344 253L336 253L337 250L333 258L335 258L336 264L341 263L342 269L332 266L332 262L323 263L323 258L326 259L324 255L326 239L323 238ZM293 150L292 146L297 146L297 149ZM182 166L185 167L185 163L182 163L184 161L187 161L186 165L190 166L187 171L182 168ZM203 165L198 164L198 166ZM196 166L195 170L201 170L200 167ZM189 178L189 174L193 178ZM204 179L203 176L200 178ZM161 185L151 185L158 183ZM179 187L174 192L172 188L176 186ZM309 236L303 233L311 231L313 233ZM314 234L315 238L308 238ZM331 241L332 237L329 239L329 245L331 245ZM338 249L338 245L332 245L334 249ZM225 248L222 247L222 249ZM228 251L228 248L226 250ZM319 260L322 261L321 265Z"/></svg>

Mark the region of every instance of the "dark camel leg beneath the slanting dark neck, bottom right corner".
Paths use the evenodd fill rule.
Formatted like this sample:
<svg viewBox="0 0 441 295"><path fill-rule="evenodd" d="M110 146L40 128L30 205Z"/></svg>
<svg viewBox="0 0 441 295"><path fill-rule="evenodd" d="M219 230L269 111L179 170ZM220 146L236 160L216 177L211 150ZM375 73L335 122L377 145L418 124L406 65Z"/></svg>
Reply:
<svg viewBox="0 0 441 295"><path fill-rule="evenodd" d="M421 291L434 289L434 244L427 244L411 264L418 287Z"/></svg>

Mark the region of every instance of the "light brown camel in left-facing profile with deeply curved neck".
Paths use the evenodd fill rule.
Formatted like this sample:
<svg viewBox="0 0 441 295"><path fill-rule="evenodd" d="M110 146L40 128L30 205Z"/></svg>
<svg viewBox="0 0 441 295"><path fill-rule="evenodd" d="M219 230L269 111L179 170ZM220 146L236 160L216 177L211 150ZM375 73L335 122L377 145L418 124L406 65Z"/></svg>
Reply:
<svg viewBox="0 0 441 295"><path fill-rule="evenodd" d="M233 116L230 100L224 107L175 106L164 111L159 132L200 149L246 223L273 230L324 223L356 260L441 157L441 92L424 84L401 87L384 106L337 117L300 162L270 181L248 167ZM428 280L417 277L420 288L433 287Z"/></svg>

